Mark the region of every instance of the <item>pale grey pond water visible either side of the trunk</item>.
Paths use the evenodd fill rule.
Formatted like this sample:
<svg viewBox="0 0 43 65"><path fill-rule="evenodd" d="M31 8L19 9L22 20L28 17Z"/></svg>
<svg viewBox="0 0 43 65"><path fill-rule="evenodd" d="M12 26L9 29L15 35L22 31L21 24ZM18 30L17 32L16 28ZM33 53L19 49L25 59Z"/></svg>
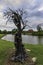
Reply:
<svg viewBox="0 0 43 65"><path fill-rule="evenodd" d="M2 39L14 42L14 35L8 34ZM43 44L43 36L22 35L22 42L28 44Z"/></svg>

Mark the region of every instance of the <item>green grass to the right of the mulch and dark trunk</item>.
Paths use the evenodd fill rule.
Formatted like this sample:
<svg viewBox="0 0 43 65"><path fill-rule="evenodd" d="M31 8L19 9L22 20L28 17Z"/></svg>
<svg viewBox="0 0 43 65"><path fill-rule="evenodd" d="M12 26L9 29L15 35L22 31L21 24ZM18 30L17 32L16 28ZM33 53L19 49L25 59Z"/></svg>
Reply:
<svg viewBox="0 0 43 65"><path fill-rule="evenodd" d="M43 45L25 44L25 48L31 49L30 55L37 57L36 65L43 65Z"/></svg>

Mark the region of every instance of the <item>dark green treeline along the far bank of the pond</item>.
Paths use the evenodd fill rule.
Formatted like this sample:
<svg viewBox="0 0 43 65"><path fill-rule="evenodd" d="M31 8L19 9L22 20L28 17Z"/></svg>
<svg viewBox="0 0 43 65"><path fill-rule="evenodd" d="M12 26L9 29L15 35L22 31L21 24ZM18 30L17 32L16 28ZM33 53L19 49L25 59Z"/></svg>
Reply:
<svg viewBox="0 0 43 65"><path fill-rule="evenodd" d="M7 30L0 30L0 34L15 34L17 32L17 29L13 29L12 31ZM43 36L43 30L38 31L23 31L22 34L24 35L34 35L34 36Z"/></svg>

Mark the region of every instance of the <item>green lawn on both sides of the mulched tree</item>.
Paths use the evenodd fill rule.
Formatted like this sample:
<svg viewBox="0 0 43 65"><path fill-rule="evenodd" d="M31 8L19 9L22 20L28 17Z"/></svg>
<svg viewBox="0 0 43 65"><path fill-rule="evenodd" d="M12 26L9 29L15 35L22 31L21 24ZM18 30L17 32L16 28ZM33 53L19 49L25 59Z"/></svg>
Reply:
<svg viewBox="0 0 43 65"><path fill-rule="evenodd" d="M30 55L37 57L36 65L43 65L43 45L24 44L25 48L30 49ZM0 39L0 65L5 65L4 62L8 58L9 49L14 47L12 42Z"/></svg>

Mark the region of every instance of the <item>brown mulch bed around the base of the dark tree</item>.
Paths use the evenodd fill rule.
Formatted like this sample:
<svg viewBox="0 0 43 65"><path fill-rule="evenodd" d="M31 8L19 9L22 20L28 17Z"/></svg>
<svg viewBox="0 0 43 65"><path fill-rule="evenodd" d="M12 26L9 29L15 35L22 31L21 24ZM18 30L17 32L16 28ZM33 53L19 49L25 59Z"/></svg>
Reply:
<svg viewBox="0 0 43 65"><path fill-rule="evenodd" d="M36 65L36 62L32 61L31 56L28 56L23 63L11 61L11 57L14 54L15 54L15 49L10 49L8 52L7 60L5 61L5 65Z"/></svg>

